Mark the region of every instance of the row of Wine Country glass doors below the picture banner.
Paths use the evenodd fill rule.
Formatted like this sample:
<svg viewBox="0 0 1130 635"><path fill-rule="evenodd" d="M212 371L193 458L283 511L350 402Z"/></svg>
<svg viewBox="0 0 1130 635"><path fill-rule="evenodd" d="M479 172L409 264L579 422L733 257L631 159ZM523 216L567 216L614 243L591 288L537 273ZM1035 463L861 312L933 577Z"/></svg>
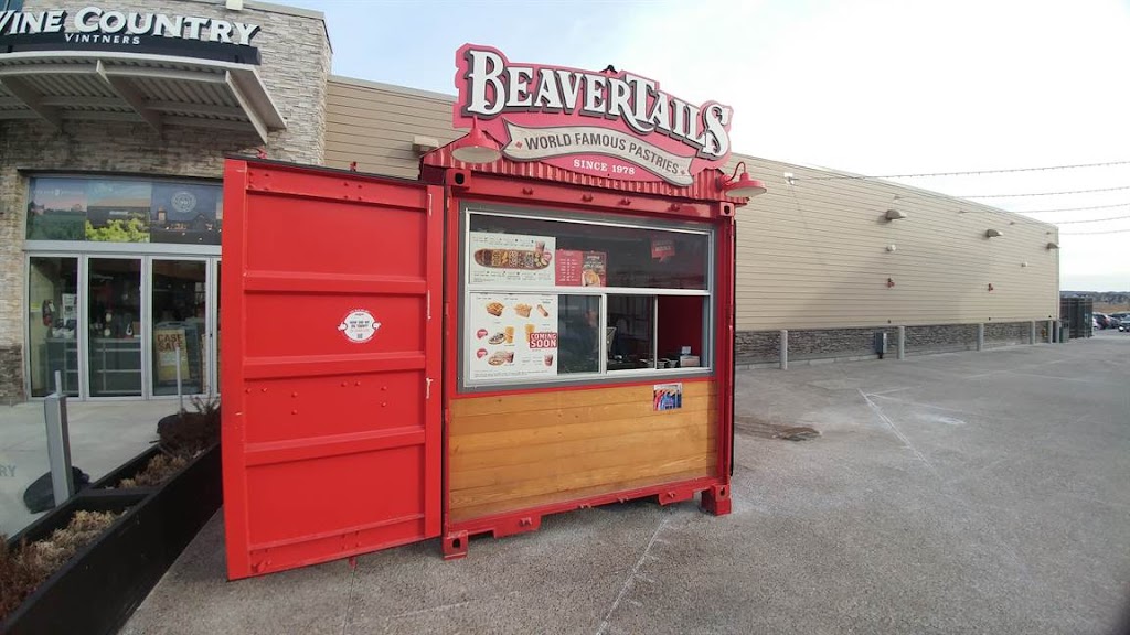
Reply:
<svg viewBox="0 0 1130 635"><path fill-rule="evenodd" d="M219 258L29 254L27 388L94 397L219 392ZM179 351L179 353L177 353ZM177 357L180 355L180 357Z"/></svg>

